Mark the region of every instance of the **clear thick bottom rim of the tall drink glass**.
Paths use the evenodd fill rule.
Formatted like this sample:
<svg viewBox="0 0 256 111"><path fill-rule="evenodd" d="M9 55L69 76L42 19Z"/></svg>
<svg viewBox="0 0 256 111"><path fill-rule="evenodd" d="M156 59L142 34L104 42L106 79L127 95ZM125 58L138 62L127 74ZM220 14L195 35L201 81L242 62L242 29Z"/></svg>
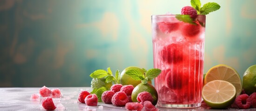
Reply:
<svg viewBox="0 0 256 111"><path fill-rule="evenodd" d="M159 107L165 107L165 108L195 108L200 107L201 103L195 103L195 104L163 104L163 103L157 103L157 106Z"/></svg>

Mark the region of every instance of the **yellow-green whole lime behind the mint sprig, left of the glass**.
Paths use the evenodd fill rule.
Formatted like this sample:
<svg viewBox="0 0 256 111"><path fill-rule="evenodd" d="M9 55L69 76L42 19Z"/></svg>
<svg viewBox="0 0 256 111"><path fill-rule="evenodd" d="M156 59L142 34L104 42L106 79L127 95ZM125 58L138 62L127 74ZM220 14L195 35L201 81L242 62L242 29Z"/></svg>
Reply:
<svg viewBox="0 0 256 111"><path fill-rule="evenodd" d="M141 83L141 80L133 80L128 74L126 74L126 71L131 70L131 69L138 69L141 73L145 73L145 70L131 66L125 68L122 73L120 74L120 84L122 85L132 85L133 87L137 86L139 83ZM151 84L151 81L148 81L148 83Z"/></svg>

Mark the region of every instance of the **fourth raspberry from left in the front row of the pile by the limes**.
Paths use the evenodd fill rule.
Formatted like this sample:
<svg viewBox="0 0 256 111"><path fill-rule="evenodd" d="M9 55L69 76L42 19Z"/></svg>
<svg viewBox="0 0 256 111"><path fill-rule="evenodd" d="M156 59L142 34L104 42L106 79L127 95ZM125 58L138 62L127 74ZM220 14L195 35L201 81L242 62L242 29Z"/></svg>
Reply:
<svg viewBox="0 0 256 111"><path fill-rule="evenodd" d="M117 92L112 97L112 104L115 106L125 106L128 102L129 99L124 92Z"/></svg>

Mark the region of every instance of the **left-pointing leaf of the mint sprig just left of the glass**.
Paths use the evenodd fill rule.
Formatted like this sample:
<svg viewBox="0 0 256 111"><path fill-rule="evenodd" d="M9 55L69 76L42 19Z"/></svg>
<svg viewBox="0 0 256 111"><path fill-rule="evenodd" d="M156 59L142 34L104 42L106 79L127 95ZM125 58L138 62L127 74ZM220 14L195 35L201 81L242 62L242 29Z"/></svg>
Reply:
<svg viewBox="0 0 256 111"><path fill-rule="evenodd" d="M133 80L144 80L144 75L138 69L131 69L126 71L126 74L131 76Z"/></svg>

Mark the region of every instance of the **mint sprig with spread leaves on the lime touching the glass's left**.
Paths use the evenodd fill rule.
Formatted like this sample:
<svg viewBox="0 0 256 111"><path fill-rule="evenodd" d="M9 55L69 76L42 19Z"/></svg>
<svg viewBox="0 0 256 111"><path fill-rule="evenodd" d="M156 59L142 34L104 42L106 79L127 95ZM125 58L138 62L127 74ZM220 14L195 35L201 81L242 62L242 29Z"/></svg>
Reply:
<svg viewBox="0 0 256 111"><path fill-rule="evenodd" d="M146 84L147 81L154 79L161 73L161 70L158 68L152 68L152 69L145 70L145 71L146 72L143 74L138 69L131 69L131 70L126 71L126 74L131 76L131 78L133 80L141 80L142 84Z"/></svg>

